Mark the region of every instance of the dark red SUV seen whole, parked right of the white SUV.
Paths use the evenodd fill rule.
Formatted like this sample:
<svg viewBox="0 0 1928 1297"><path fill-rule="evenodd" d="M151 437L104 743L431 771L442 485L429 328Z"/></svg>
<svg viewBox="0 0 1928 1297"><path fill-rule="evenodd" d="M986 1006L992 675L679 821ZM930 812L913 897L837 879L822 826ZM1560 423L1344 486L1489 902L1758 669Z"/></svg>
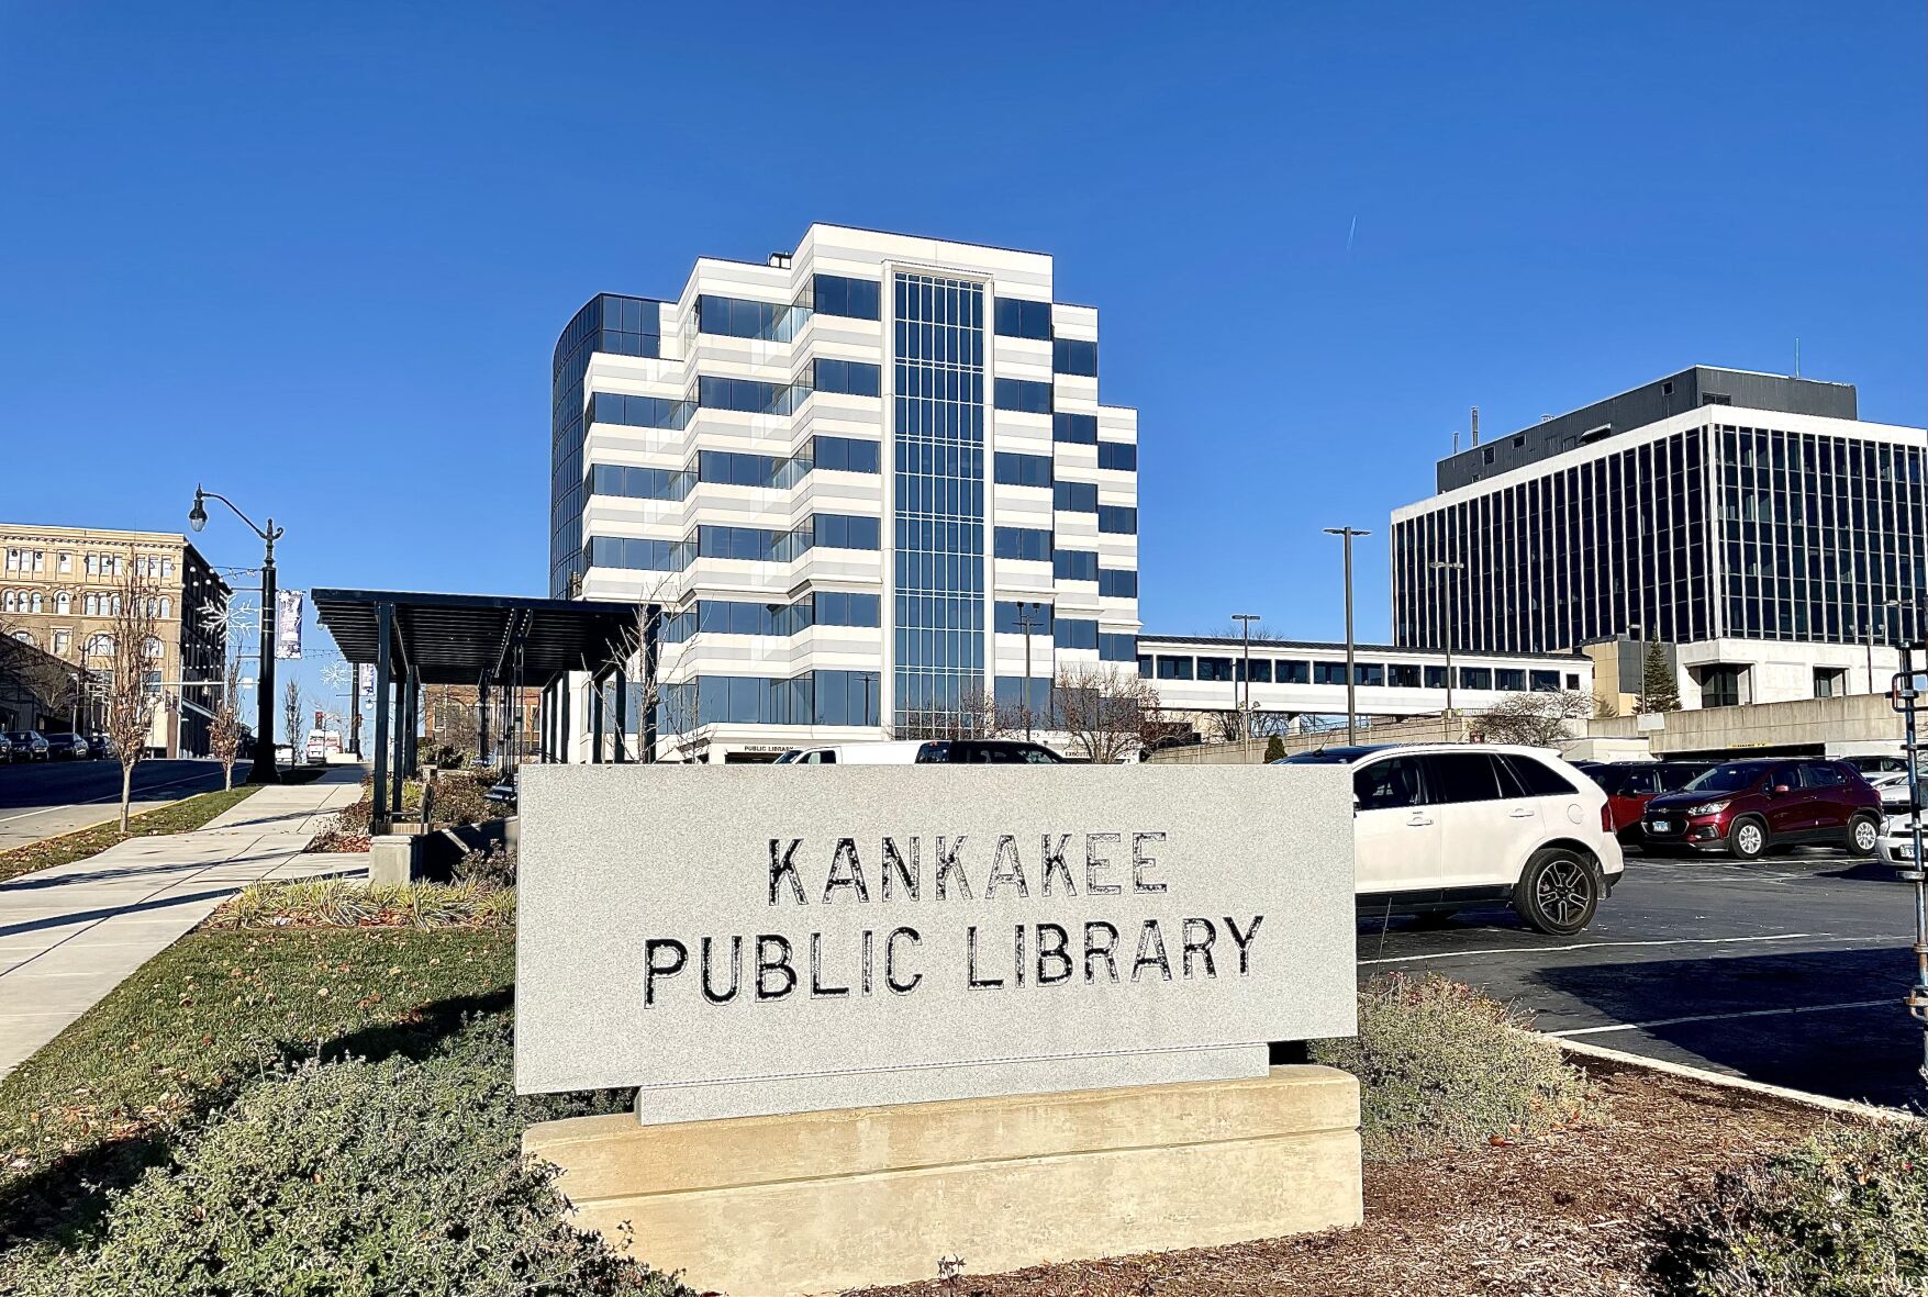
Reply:
<svg viewBox="0 0 1928 1297"><path fill-rule="evenodd" d="M1872 856L1882 840L1882 794L1847 761L1727 761L1681 792L1652 798L1641 838L1741 860L1793 844Z"/></svg>

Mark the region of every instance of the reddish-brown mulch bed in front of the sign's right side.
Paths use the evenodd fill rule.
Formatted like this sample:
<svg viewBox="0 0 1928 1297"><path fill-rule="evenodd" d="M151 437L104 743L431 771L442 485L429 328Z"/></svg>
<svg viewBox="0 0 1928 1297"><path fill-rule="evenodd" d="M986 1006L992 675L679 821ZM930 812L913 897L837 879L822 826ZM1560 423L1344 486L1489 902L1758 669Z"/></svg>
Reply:
<svg viewBox="0 0 1928 1297"><path fill-rule="evenodd" d="M1650 1222L1826 1116L1645 1068L1581 1062L1606 1102L1542 1139L1367 1164L1365 1224L1317 1235L962 1276L870 1297L1459 1297L1652 1293ZM964 1258L966 1266L970 1258Z"/></svg>

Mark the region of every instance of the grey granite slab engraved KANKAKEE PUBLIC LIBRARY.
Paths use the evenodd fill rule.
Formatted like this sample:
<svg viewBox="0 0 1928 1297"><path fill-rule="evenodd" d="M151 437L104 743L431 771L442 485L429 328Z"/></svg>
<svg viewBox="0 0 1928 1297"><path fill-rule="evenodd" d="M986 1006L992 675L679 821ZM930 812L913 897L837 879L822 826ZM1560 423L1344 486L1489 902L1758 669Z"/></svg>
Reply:
<svg viewBox="0 0 1928 1297"><path fill-rule="evenodd" d="M1353 1033L1346 767L521 782L522 1093L679 1122L1265 1075Z"/></svg>

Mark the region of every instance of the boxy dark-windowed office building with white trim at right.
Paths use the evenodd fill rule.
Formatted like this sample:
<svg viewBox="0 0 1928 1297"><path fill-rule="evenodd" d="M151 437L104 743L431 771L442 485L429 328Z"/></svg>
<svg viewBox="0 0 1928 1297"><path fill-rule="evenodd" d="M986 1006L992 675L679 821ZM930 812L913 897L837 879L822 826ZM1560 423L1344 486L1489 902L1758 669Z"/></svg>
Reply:
<svg viewBox="0 0 1928 1297"><path fill-rule="evenodd" d="M1618 646L1621 703L1645 642L1687 707L1886 690L1928 630L1928 434L1855 412L1693 368L1454 455L1392 515L1394 640Z"/></svg>

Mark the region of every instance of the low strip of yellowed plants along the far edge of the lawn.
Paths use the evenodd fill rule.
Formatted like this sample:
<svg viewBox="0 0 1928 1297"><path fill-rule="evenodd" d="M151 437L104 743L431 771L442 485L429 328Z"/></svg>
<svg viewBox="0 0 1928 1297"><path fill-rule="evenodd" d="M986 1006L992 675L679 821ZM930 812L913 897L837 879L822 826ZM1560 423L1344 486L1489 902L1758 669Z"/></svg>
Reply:
<svg viewBox="0 0 1928 1297"><path fill-rule="evenodd" d="M347 879L251 883L210 927L515 927L515 892L486 883L370 887Z"/></svg>

